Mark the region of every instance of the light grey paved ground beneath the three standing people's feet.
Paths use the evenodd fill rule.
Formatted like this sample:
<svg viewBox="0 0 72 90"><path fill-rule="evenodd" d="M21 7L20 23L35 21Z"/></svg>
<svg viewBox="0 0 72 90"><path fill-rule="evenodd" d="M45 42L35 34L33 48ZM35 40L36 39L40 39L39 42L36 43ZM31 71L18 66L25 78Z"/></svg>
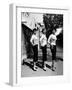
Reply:
<svg viewBox="0 0 72 90"><path fill-rule="evenodd" d="M57 60L55 61L56 70L51 70L51 52L48 49L47 57L47 70L43 71L42 66L42 56L41 51L39 51L39 60L38 60L38 71L33 71L32 59L27 59L24 65L21 66L21 76L22 77L32 77L32 76L54 76L54 75L63 75L63 51L61 48L57 47Z"/></svg>

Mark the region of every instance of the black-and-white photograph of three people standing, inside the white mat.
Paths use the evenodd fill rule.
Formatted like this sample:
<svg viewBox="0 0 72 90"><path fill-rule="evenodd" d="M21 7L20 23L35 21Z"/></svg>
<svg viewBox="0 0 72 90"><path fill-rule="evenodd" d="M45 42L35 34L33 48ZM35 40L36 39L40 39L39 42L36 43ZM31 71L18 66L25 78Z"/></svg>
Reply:
<svg viewBox="0 0 72 90"><path fill-rule="evenodd" d="M21 13L21 77L63 75L63 14Z"/></svg>

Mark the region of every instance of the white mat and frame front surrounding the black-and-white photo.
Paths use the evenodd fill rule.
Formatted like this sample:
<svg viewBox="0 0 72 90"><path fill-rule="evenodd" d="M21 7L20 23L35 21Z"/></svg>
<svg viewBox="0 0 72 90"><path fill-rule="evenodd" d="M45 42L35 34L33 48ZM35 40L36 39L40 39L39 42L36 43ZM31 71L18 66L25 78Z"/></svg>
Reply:
<svg viewBox="0 0 72 90"><path fill-rule="evenodd" d="M70 82L70 71L68 62L67 48L67 30L69 28L69 10L59 8L37 8L37 7L24 7L21 5L13 5L13 85L32 85L32 84L54 84L54 83L67 83ZM41 77L21 77L21 13L22 12L35 12L35 13L53 13L63 14L63 28L64 28L64 49L63 49L63 75L62 76L41 76Z"/></svg>

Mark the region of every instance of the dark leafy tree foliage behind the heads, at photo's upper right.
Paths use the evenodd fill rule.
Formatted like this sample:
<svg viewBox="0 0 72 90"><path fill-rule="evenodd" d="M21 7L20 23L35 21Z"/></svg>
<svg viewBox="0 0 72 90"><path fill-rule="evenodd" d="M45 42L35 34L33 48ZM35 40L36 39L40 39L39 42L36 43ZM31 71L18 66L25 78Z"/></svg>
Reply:
<svg viewBox="0 0 72 90"><path fill-rule="evenodd" d="M44 14L43 22L46 28L47 38L52 33L53 29L63 27L63 15L62 14Z"/></svg>

